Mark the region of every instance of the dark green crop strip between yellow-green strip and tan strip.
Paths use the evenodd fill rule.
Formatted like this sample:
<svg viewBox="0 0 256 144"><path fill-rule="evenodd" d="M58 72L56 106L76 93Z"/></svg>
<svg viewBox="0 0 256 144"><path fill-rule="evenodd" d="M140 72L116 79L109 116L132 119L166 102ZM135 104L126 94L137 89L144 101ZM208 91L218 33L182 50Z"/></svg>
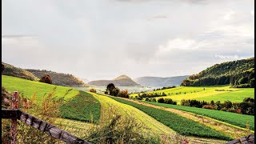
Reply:
<svg viewBox="0 0 256 144"><path fill-rule="evenodd" d="M171 113L170 111L159 110L149 106L142 106L134 102L126 101L122 98L111 98L118 102L122 102L127 105L134 106L139 110L142 110L159 122L162 122L164 125L169 126L171 129L175 130L179 134L187 136L198 136L202 138L218 138L223 140L232 139L229 136L226 136L226 134L222 134L216 130L211 129L210 127L203 126L198 122L194 122L187 118L178 116L177 114Z"/></svg>

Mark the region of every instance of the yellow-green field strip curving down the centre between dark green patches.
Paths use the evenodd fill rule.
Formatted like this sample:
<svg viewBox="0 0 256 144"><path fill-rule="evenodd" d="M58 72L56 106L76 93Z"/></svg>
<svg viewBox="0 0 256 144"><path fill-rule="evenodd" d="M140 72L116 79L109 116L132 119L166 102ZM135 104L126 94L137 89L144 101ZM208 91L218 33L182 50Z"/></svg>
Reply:
<svg viewBox="0 0 256 144"><path fill-rule="evenodd" d="M94 98L98 99L101 102L102 114L101 121L104 122L106 120L106 114L113 113L110 109L118 110L118 114L122 116L130 116L134 118L137 122L142 123L146 126L144 133L150 134L174 134L174 130L171 130L168 126L163 125L161 122L158 122L154 118L150 117L148 114L145 114L141 110L134 108L133 106L129 106L123 104L121 102L117 102L112 98L109 98L104 95L94 94Z"/></svg>

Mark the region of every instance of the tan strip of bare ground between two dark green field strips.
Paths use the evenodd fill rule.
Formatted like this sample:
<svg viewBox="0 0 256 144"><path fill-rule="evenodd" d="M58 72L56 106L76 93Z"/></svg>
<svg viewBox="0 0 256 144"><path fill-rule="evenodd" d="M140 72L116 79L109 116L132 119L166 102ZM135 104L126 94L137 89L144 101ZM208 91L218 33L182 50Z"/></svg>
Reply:
<svg viewBox="0 0 256 144"><path fill-rule="evenodd" d="M123 99L128 100L130 102L138 103L140 105L150 106L150 107L154 107L157 109L173 112L174 114L178 114L182 117L189 118L195 122L199 122L205 126L209 126L209 127L213 128L214 130L218 130L219 132L221 132L223 134L228 134L234 139L241 138L243 136L246 136L246 134L247 134L246 130L240 130L240 129L232 127L232 126L228 126L222 122L218 122L217 120L213 120L212 118L208 118L208 117L201 116L198 114L192 114L190 112L166 108L166 107L162 107L162 106L155 106L155 105L151 105L151 104L145 103L145 102L134 101L132 99L126 99L126 98L123 98Z"/></svg>

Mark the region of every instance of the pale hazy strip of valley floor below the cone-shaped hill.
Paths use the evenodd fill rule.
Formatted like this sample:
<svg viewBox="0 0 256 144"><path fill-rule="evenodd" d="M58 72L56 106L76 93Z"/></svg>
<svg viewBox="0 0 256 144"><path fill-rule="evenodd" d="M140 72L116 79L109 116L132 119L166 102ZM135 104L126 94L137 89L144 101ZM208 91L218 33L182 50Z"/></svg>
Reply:
<svg viewBox="0 0 256 144"><path fill-rule="evenodd" d="M146 86L116 86L120 90L128 90L129 93L137 93L141 91L150 91L157 89L159 87L146 87ZM89 91L90 89L94 88L98 92L104 92L106 90L106 86L89 86L89 87L73 87L76 90L83 90L83 91Z"/></svg>

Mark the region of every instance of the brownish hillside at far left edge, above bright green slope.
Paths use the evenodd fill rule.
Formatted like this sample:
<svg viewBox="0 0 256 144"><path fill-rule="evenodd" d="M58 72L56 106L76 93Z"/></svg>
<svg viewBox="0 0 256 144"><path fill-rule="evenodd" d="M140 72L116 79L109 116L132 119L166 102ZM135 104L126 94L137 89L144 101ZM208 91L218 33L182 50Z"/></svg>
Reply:
<svg viewBox="0 0 256 144"><path fill-rule="evenodd" d="M3 70L2 72L3 75L9 75L13 77L28 79L30 81L39 81L39 78L37 76L35 76L34 74L30 73L27 70L12 66L5 62L2 62L2 64L5 66L5 70Z"/></svg>

